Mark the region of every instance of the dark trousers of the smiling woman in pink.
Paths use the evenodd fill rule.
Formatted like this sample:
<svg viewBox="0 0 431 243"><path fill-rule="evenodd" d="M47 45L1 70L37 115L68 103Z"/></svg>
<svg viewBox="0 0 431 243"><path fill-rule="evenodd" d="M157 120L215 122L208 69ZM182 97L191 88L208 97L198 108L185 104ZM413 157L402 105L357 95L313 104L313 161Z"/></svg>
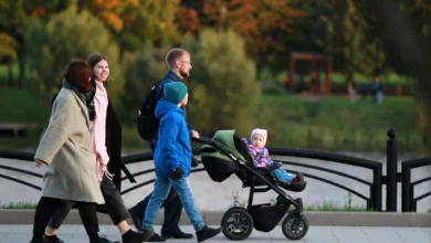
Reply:
<svg viewBox="0 0 431 243"><path fill-rule="evenodd" d="M124 204L122 194L115 187L114 182L109 180L106 176L103 177L101 190L103 198L105 199L105 209L115 225L130 218L127 208ZM71 202L62 202L57 210L55 210L51 219L51 222L49 224L50 228L59 229L63 221L66 219L69 211L72 209L73 204L74 203Z"/></svg>

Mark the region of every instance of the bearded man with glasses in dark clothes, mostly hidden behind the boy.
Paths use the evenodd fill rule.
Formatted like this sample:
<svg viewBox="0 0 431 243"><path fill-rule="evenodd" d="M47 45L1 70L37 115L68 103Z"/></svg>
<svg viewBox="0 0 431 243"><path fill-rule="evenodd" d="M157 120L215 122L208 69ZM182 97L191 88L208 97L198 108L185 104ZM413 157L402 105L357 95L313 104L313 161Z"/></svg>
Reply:
<svg viewBox="0 0 431 243"><path fill-rule="evenodd" d="M162 89L166 84L171 82L181 82L182 80L190 75L190 70L192 68L190 62L190 54L182 49L172 49L166 55L166 64L168 65L168 73L160 81L157 89L157 98L162 97ZM183 115L186 117L186 106L181 107ZM187 124L190 138L199 138L199 133L195 130L189 124ZM150 141L150 148L153 152L156 149L158 140L158 133ZM198 166L198 161L192 157L192 167ZM148 205L151 194L147 196L143 201L138 202L135 207L129 209L129 214L134 221L135 226L138 230L141 230L141 222L144 221L144 213ZM165 221L161 228L161 236L154 234L149 240L150 242L164 242L167 239L191 239L192 234L183 233L178 224L181 218L182 203L172 188L169 191L168 198L165 202Z"/></svg>

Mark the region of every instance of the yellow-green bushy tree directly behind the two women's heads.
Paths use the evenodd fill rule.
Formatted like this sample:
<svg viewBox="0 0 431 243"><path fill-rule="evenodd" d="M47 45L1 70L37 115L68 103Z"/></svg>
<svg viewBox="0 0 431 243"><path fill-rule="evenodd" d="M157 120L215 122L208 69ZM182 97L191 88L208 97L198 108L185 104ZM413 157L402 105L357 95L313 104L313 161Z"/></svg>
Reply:
<svg viewBox="0 0 431 243"><path fill-rule="evenodd" d="M119 98L124 78L118 62L118 45L109 31L88 11L77 12L72 6L53 14L45 24L33 17L25 33L28 67L31 89L50 101L61 87L61 74L73 59L86 60L92 53L107 56L111 68L108 92L112 99ZM30 44L31 43L31 44Z"/></svg>

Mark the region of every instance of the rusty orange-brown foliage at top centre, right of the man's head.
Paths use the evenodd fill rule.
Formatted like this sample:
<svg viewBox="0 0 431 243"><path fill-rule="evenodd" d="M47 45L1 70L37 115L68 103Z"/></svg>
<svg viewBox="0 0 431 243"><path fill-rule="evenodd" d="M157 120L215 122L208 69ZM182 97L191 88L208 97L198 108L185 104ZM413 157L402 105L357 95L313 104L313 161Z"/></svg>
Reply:
<svg viewBox="0 0 431 243"><path fill-rule="evenodd" d="M254 54L270 47L283 50L280 33L292 33L293 20L305 15L288 0L206 0L203 14L209 24L239 33Z"/></svg>

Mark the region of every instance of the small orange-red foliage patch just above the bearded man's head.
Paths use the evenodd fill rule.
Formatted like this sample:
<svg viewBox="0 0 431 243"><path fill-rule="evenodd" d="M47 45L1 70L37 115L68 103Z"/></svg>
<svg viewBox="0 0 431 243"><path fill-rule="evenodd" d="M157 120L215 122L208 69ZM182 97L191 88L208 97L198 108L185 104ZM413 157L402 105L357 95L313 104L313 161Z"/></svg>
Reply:
<svg viewBox="0 0 431 243"><path fill-rule="evenodd" d="M181 33L193 33L202 29L198 12L187 7L181 7L177 11L175 22Z"/></svg>

